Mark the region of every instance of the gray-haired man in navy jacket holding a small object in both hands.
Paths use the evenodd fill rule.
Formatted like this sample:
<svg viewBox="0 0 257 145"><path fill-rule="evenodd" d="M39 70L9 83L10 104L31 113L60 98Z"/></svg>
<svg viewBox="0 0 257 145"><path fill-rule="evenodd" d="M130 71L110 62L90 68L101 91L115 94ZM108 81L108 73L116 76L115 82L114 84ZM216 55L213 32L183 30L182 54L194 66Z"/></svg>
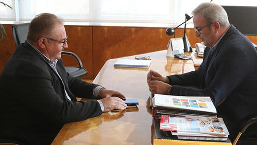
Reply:
<svg viewBox="0 0 257 145"><path fill-rule="evenodd" d="M240 121L257 112L257 52L229 24L221 6L203 3L192 13L195 35L207 46L202 64L196 71L167 77L149 72L149 89L159 94L210 96L233 141ZM249 129L256 132L257 128Z"/></svg>

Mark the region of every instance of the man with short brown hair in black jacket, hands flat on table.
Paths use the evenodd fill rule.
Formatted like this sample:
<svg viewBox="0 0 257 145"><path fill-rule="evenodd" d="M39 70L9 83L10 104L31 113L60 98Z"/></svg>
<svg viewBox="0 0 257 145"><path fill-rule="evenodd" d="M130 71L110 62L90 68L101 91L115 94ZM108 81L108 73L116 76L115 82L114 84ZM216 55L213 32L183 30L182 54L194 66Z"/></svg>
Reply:
<svg viewBox="0 0 257 145"><path fill-rule="evenodd" d="M67 47L60 18L43 13L31 21L27 40L0 76L0 140L51 144L65 123L126 108L121 93L65 71L61 51ZM99 100L77 102L76 96Z"/></svg>

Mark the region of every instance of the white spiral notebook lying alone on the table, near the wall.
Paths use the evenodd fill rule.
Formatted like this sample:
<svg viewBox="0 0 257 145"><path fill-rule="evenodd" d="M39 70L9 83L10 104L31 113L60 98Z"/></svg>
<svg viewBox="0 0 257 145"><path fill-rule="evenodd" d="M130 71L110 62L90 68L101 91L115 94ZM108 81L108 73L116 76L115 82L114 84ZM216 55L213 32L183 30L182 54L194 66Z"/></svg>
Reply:
<svg viewBox="0 0 257 145"><path fill-rule="evenodd" d="M136 59L118 59L114 63L114 67L131 67L131 68L145 68L148 69L151 60L136 60Z"/></svg>

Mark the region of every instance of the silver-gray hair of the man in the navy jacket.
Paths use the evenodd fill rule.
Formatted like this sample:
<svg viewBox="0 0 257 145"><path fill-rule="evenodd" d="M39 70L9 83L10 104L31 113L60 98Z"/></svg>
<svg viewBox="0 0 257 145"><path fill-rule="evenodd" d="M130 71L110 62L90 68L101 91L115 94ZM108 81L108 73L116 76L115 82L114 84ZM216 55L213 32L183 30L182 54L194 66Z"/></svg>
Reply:
<svg viewBox="0 0 257 145"><path fill-rule="evenodd" d="M221 27L229 26L227 12L220 5L213 3L202 3L192 11L193 15L196 13L202 14L206 24L211 24L215 21L218 21Z"/></svg>

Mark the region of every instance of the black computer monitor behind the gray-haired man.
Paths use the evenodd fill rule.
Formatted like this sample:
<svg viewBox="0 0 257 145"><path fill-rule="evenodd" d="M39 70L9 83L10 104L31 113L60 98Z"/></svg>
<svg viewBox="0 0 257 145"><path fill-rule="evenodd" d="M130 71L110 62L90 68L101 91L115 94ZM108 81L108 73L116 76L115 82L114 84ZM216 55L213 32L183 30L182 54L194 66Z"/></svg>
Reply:
<svg viewBox="0 0 257 145"><path fill-rule="evenodd" d="M222 6L228 13L228 20L242 34L257 36L256 6Z"/></svg>

